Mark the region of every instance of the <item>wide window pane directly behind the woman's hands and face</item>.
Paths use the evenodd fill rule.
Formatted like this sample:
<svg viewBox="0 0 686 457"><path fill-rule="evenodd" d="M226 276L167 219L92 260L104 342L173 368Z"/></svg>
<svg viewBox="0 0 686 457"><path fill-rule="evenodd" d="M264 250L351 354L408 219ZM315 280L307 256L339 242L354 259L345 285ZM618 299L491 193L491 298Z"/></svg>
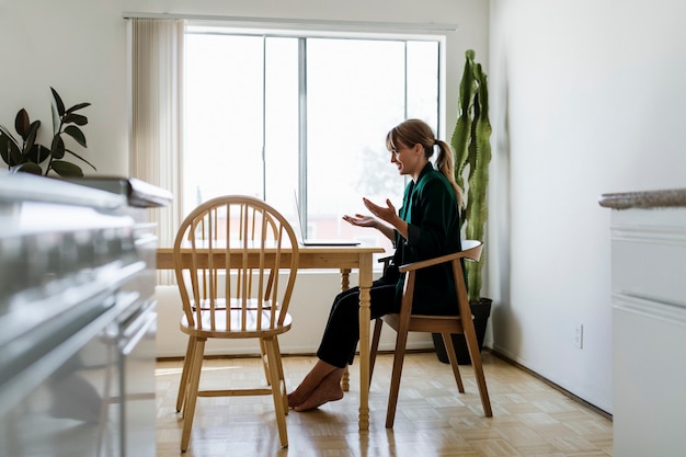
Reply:
<svg viewBox="0 0 686 457"><path fill-rule="evenodd" d="M404 43L307 42L307 214L311 237L353 236L389 247L343 214L368 214L362 197L402 202L404 180L390 163L386 134L404 118ZM305 198L301 198L305 201ZM301 202L302 204L302 202Z"/></svg>

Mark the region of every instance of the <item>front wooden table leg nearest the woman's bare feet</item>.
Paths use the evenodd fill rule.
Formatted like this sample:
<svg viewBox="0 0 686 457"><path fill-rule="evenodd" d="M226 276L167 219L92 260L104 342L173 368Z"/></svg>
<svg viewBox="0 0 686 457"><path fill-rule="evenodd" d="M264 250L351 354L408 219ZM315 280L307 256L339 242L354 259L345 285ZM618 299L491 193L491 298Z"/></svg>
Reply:
<svg viewBox="0 0 686 457"><path fill-rule="evenodd" d="M359 254L359 430L369 430L369 322L371 254Z"/></svg>

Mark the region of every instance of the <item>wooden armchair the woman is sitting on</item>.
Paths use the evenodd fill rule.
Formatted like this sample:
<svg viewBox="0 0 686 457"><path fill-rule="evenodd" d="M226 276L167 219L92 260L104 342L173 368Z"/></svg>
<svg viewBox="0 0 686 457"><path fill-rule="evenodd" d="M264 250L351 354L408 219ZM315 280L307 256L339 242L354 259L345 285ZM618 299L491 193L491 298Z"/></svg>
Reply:
<svg viewBox="0 0 686 457"><path fill-rule="evenodd" d="M453 340L450 338L450 334L465 334L469 355L471 356L471 365L475 369L475 376L479 386L479 395L481 396L483 412L487 418L491 418L493 415L493 412L491 411L491 401L489 400L489 392L485 386L485 378L483 377L483 366L481 364L481 354L479 352L477 334L475 332L472 316L469 309L467 286L465 284L465 276L462 275L461 263L462 259L475 262L478 261L481 256L482 249L482 242L467 240L462 242L462 251L460 252L449 255L443 255L441 258L430 259L426 261L410 263L407 265L401 265L399 267L400 272L405 273L404 289L400 312L386 315L376 320L369 355L369 382L371 382L371 375L374 373L374 363L376 361L376 353L379 346L381 328L384 327L384 322L386 322L393 330L396 330L396 332L398 332L396 339L396 352L393 357L390 392L388 398L388 410L386 413L387 429L392 429L393 422L396 420L396 407L398 403L400 375L402 373L402 363L404 359L405 345L408 342L408 332L441 333L446 346L446 351L448 353L448 359L450 361L450 366L453 367L453 374L455 375L455 380L457 382L457 389L459 392L465 392L465 387L462 386L462 380L460 378L457 355L455 354L455 347L453 346ZM414 293L414 278L418 270L446 262L449 262L453 265L453 274L455 276L455 284L457 285L456 302L459 313L455 316L412 315L412 296Z"/></svg>

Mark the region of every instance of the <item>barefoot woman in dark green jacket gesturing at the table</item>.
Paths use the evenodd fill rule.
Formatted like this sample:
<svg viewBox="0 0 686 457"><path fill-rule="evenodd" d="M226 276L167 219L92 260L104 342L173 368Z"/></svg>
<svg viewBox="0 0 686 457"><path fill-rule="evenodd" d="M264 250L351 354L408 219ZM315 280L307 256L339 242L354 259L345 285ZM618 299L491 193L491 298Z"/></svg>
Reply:
<svg viewBox="0 0 686 457"><path fill-rule="evenodd" d="M436 167L430 158L438 148ZM390 162L399 173L412 178L396 213L390 201L386 206L363 198L373 216L344 216L347 222L374 227L396 247L393 261L386 274L370 289L371 318L398 312L403 275L395 265L426 260L461 250L459 205L461 190L455 182L450 147L437 140L431 127L419 119L408 119L386 136ZM455 283L449 264L436 265L418 273L413 312L424 315L454 313ZM339 294L331 307L329 321L317 352L319 361L302 382L288 395L288 407L308 411L343 398L341 378L346 364L352 364L359 339L359 288Z"/></svg>

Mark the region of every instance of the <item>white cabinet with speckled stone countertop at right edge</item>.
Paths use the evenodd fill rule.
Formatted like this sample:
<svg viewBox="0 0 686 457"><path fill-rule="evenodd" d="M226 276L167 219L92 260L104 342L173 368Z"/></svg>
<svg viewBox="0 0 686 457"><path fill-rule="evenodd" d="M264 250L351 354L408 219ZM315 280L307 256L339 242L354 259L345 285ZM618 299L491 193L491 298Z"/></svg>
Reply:
<svg viewBox="0 0 686 457"><path fill-rule="evenodd" d="M607 194L616 456L686 456L686 190Z"/></svg>

